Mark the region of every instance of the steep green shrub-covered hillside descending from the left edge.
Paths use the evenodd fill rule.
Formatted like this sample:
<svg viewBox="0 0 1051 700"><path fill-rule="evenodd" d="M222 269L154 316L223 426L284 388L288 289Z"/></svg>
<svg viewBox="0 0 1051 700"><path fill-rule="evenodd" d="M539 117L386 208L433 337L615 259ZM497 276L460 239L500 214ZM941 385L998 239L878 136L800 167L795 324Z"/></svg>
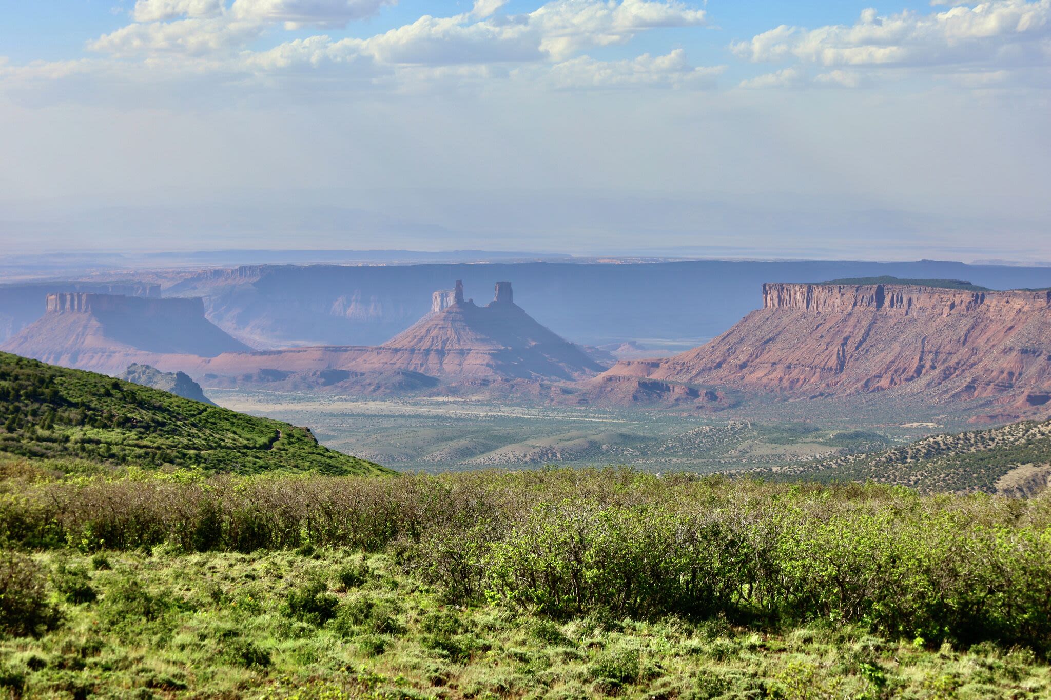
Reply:
<svg viewBox="0 0 1051 700"><path fill-rule="evenodd" d="M79 369L0 353L0 453L212 472L386 472L254 418Z"/></svg>

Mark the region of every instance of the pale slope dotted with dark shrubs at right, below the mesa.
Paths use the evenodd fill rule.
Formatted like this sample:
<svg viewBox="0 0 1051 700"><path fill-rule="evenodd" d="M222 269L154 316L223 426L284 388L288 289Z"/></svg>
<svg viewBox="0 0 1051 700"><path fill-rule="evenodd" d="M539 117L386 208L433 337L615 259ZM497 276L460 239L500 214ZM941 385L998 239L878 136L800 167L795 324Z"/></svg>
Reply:
<svg viewBox="0 0 1051 700"><path fill-rule="evenodd" d="M795 464L767 473L824 482L871 480L925 492L993 492L996 480L1011 469L1046 464L1051 464L1051 421L1025 421L931 436L903 447Z"/></svg>

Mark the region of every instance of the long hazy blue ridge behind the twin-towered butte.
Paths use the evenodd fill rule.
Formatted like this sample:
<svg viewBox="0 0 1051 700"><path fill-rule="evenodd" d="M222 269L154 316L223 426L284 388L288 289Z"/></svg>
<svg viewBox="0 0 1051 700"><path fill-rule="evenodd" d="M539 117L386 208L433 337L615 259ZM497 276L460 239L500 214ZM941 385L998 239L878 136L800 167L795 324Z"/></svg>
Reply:
<svg viewBox="0 0 1051 700"><path fill-rule="evenodd" d="M714 338L759 307L763 282L894 276L991 289L1051 285L1051 268L918 260L684 260L413 266L263 264L181 273L166 295L201 296L208 318L259 347L375 345L416 322L431 293L510 279L522 307L574 342ZM681 345L679 345L681 346Z"/></svg>

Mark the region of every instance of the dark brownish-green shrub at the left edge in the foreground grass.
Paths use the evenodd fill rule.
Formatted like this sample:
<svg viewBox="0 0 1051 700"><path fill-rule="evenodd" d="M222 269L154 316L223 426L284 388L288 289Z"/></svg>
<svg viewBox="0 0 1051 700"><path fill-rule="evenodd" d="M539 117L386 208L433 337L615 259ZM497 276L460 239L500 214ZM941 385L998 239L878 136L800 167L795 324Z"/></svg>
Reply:
<svg viewBox="0 0 1051 700"><path fill-rule="evenodd" d="M0 551L0 631L35 636L58 624L59 612L47 602L45 578L29 557Z"/></svg>

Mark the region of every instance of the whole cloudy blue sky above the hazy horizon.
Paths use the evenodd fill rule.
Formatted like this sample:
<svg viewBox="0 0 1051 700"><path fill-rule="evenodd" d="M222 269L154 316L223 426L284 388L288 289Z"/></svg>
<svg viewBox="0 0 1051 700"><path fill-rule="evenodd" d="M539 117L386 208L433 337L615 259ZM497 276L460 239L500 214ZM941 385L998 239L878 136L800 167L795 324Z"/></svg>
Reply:
<svg viewBox="0 0 1051 700"><path fill-rule="evenodd" d="M1051 260L1051 0L0 5L0 255Z"/></svg>

